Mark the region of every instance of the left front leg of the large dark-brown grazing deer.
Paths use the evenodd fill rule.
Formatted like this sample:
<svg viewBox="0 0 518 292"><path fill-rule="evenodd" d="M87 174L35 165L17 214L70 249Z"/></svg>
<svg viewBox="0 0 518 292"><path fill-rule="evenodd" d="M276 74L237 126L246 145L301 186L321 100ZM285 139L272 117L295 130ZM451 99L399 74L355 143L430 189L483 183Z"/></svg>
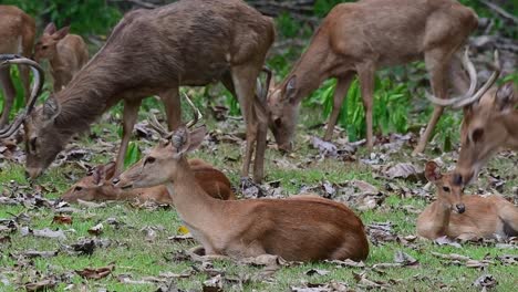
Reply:
<svg viewBox="0 0 518 292"><path fill-rule="evenodd" d="M133 126L138 117L138 107L141 107L141 100L124 101L124 114L123 114L123 137L121 140L121 147L118 148L117 160L115 161L115 174L113 177L117 177L124 170L124 158L126 157L127 145L132 137Z"/></svg>

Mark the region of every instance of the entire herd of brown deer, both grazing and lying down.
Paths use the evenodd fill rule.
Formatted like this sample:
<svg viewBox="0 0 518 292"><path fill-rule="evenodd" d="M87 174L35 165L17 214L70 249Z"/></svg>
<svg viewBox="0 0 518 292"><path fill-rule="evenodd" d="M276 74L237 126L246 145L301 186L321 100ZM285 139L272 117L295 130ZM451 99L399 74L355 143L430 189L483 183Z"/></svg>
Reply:
<svg viewBox="0 0 518 292"><path fill-rule="evenodd" d="M246 124L241 176L253 163L263 178L267 132L279 150L293 150L300 103L325 80L336 79L324 139L358 75L365 109L366 147L372 150L373 91L377 69L424 60L435 104L414 154L425 149L444 107L463 108L456 168L442 174L428 161L425 176L436 200L418 217L417 234L427 239L518 236L518 209L499 196L464 196L464 188L503 148L518 149L518 91L496 86L500 61L477 86L477 72L463 45L477 28L475 12L455 0L361 0L335 6L284 81L273 84L265 67L274 42L274 22L242 0L179 0L153 10L134 10L112 30L89 61L85 42L50 23L35 42L35 21L12 6L0 6L0 82L4 92L0 139L23 125L27 176L37 178L74 135L118 102L124 103L123 135L115 160L95 167L62 199L155 200L172 204L205 254L232 258L277 254L287 260L365 260L369 242L361 219L345 205L312 194L286 199L240 199L224 173L201 159L187 159L204 142L201 117L183 124L179 86L221 82L237 98ZM34 45L35 42L35 45ZM37 106L49 60L53 92ZM18 65L25 108L9 124L15 100L10 65ZM34 85L30 88L30 71ZM260 74L267 73L266 84ZM467 74L466 74L467 73ZM448 97L448 88L459 94ZM479 87L477 90L477 87ZM143 98L158 95L167 127L154 115L157 146L124 170L124 157ZM190 100L185 96L193 107ZM229 226L229 222L231 226Z"/></svg>

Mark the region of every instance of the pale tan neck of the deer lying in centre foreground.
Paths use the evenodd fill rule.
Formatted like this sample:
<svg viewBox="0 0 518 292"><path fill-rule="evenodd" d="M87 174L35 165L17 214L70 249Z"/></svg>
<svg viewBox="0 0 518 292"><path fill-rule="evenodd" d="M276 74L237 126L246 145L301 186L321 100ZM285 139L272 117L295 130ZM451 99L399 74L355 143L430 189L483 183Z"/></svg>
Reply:
<svg viewBox="0 0 518 292"><path fill-rule="evenodd" d="M217 217L220 204L217 199L210 197L197 182L194 173L190 170L187 159L182 158L178 171L166 184L170 198L175 202L182 220L196 230L214 226L218 222Z"/></svg>

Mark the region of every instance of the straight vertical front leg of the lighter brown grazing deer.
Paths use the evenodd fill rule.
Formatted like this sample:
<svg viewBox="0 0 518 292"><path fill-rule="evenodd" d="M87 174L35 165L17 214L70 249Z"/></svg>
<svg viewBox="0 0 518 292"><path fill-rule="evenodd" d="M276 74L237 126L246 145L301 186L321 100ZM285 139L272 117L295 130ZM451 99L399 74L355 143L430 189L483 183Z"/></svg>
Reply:
<svg viewBox="0 0 518 292"><path fill-rule="evenodd" d="M372 104L374 94L374 66L370 63L364 64L358 70L358 77L362 91L363 107L365 109L365 124L366 124L366 147L372 152L374 145L372 135Z"/></svg>

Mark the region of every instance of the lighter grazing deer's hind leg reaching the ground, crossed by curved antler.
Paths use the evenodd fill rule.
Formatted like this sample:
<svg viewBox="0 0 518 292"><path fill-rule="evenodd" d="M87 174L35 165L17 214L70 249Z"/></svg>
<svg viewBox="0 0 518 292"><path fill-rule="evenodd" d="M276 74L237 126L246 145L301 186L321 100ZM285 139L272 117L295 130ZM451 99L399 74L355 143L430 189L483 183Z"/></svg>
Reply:
<svg viewBox="0 0 518 292"><path fill-rule="evenodd" d="M448 62L447 60L445 60L443 51L432 51L425 53L425 63L431 75L432 91L434 95L439 98L446 98L447 86L445 73ZM417 147L415 147L414 152L412 153L413 155L417 155L424 152L429 137L432 137L432 133L434 132L435 125L441 118L441 115L443 115L443 106L435 105L434 113L432 114L428 125L426 126L426 129L423 133L423 136L421 136Z"/></svg>

